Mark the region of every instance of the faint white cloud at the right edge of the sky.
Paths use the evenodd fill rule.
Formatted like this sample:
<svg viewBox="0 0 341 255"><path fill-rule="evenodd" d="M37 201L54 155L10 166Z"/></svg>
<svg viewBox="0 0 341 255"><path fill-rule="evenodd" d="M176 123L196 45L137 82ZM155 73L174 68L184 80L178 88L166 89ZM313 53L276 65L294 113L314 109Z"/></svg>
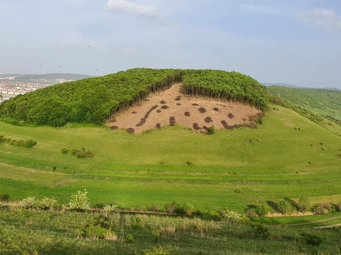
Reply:
<svg viewBox="0 0 341 255"><path fill-rule="evenodd" d="M303 12L302 16L309 23L322 28L336 29L341 33L341 16L333 10L316 8L315 10Z"/></svg>

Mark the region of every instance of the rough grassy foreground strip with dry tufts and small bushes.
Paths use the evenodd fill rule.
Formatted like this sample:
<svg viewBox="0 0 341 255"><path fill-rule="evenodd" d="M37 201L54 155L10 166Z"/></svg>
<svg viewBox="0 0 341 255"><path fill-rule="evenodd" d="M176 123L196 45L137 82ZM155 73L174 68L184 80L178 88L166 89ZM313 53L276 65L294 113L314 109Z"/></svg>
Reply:
<svg viewBox="0 0 341 255"><path fill-rule="evenodd" d="M156 251L153 247L169 255L334 255L341 246L340 229L197 217L0 209L0 222L1 255L167 254L143 252Z"/></svg>

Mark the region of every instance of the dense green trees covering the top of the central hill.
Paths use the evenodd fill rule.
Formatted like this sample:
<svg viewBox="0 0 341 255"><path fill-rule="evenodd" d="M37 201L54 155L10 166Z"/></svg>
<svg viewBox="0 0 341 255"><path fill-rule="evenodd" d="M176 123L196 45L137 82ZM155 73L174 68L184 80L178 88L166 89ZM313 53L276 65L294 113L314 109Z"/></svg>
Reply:
<svg viewBox="0 0 341 255"><path fill-rule="evenodd" d="M19 95L1 103L0 118L53 127L67 122L102 124L113 113L175 82L183 82L187 94L248 103L262 111L268 108L266 88L240 73L136 68Z"/></svg>

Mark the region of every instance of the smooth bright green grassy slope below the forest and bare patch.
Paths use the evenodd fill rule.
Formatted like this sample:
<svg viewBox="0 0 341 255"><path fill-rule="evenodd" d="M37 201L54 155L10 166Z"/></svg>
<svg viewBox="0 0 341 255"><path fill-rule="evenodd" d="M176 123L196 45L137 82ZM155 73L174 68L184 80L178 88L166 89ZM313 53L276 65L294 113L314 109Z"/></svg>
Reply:
<svg viewBox="0 0 341 255"><path fill-rule="evenodd" d="M268 112L258 129L222 130L212 136L179 126L128 135L106 127L0 122L1 135L38 142L31 149L0 145L0 194L55 196L65 203L70 194L86 188L92 204L162 208L188 201L196 209L236 211L301 196L316 203L339 201L341 127L330 122L332 133L289 109L278 109ZM82 146L95 157L61 153L64 147Z"/></svg>

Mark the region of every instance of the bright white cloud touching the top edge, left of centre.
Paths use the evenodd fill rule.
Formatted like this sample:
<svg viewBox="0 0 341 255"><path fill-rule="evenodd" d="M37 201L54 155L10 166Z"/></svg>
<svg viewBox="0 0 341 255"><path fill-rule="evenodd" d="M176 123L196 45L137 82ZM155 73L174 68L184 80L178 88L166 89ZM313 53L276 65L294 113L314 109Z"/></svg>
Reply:
<svg viewBox="0 0 341 255"><path fill-rule="evenodd" d="M109 11L128 13L130 15L161 20L161 15L153 6L144 6L128 0L108 0L105 8Z"/></svg>

